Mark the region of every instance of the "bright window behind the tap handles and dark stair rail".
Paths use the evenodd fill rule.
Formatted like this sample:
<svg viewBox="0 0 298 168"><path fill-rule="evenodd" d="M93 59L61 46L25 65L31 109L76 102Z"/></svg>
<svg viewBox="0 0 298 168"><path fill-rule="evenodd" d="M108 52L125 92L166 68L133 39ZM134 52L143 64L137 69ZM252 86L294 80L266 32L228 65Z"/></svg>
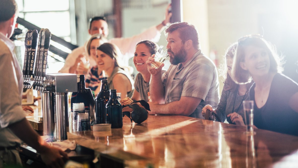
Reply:
<svg viewBox="0 0 298 168"><path fill-rule="evenodd" d="M18 4L20 18L40 28L47 28L55 36L71 42L69 0L15 1ZM52 41L51 45L53 45ZM63 67L64 63L60 62L62 58L57 59L56 57L57 55L49 52L47 73L56 73Z"/></svg>

